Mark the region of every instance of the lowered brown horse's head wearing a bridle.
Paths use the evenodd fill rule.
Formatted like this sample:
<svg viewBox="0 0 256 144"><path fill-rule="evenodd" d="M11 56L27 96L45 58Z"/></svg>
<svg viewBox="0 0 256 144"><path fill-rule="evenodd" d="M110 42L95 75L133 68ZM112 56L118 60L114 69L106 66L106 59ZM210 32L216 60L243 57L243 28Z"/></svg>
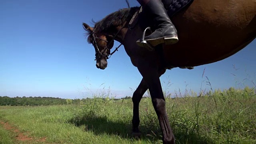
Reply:
<svg viewBox="0 0 256 144"><path fill-rule="evenodd" d="M104 70L107 65L107 59L110 55L110 49L114 46L114 41L111 40L111 36L95 32L94 28L88 24L83 23L84 30L89 34L88 42L94 46L96 67Z"/></svg>

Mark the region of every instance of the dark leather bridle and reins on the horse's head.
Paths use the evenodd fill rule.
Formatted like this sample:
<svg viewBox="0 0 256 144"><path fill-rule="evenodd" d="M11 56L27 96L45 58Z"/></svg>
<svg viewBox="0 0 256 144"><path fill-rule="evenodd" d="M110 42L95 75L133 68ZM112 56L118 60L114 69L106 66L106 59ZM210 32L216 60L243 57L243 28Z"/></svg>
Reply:
<svg viewBox="0 0 256 144"><path fill-rule="evenodd" d="M92 45L94 46L94 48L96 48L96 54L95 54L95 60L107 60L109 59L112 54L114 54L116 51L118 51L118 48L122 45L120 44L118 47L116 47L116 49L111 53L111 54L107 54L107 50L109 50L110 52L110 49L108 48L111 44L112 41L114 41L114 39L116 38L116 36L118 35L118 33L124 28L124 26L122 26L122 28L120 28L120 30L118 30L118 32L115 34L115 36L112 38L112 40L110 40L110 42L108 43L107 40L103 40L102 38L98 38L98 36L96 36L94 30L92 31L92 38L93 38L93 41L92 41ZM100 39L100 40L103 40L104 42L106 42L108 45L104 46L104 49L102 52L100 52L99 48L98 48L98 44L96 42L96 39ZM97 57L98 55L98 57ZM110 56L110 57L108 57Z"/></svg>

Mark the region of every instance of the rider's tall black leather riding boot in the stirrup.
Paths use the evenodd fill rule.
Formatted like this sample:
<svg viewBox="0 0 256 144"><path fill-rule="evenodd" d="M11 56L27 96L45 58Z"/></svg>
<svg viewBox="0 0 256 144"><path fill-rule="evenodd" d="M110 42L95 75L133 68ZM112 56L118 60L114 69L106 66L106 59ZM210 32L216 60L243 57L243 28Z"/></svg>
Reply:
<svg viewBox="0 0 256 144"><path fill-rule="evenodd" d="M178 42L178 35L175 26L172 24L166 9L161 0L137 0L146 10L146 13L152 17L156 30L149 36L145 36L145 40L152 46L161 43L175 44ZM143 46L140 40L136 42L139 46Z"/></svg>

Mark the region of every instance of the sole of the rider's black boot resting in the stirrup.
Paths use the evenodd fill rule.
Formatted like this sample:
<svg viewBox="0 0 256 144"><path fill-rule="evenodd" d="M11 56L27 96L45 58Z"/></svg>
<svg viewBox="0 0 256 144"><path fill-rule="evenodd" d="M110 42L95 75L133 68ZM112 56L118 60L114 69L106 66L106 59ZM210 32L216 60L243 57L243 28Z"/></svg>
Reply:
<svg viewBox="0 0 256 144"><path fill-rule="evenodd" d="M148 43L150 43L152 46L157 46L158 44L176 44L179 40L178 40L178 36L177 35L170 35L170 36L163 36L161 38L155 38L155 39L148 39L146 40ZM137 44L139 46L145 47L144 44L140 43L140 40L137 40ZM147 47L146 47L147 48Z"/></svg>

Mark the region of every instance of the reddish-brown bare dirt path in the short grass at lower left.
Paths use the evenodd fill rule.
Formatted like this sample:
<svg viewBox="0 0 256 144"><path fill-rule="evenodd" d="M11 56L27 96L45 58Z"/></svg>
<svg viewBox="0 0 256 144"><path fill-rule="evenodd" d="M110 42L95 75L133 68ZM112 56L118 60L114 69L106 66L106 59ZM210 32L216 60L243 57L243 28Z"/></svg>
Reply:
<svg viewBox="0 0 256 144"><path fill-rule="evenodd" d="M33 142L33 141L34 142L45 142L46 141L46 138L36 139L36 138L28 137L26 134L20 132L20 130L18 130L18 128L12 126L8 122L0 121L0 124L3 125L4 129L14 132L16 134L15 139L18 141L30 141L30 142Z"/></svg>

